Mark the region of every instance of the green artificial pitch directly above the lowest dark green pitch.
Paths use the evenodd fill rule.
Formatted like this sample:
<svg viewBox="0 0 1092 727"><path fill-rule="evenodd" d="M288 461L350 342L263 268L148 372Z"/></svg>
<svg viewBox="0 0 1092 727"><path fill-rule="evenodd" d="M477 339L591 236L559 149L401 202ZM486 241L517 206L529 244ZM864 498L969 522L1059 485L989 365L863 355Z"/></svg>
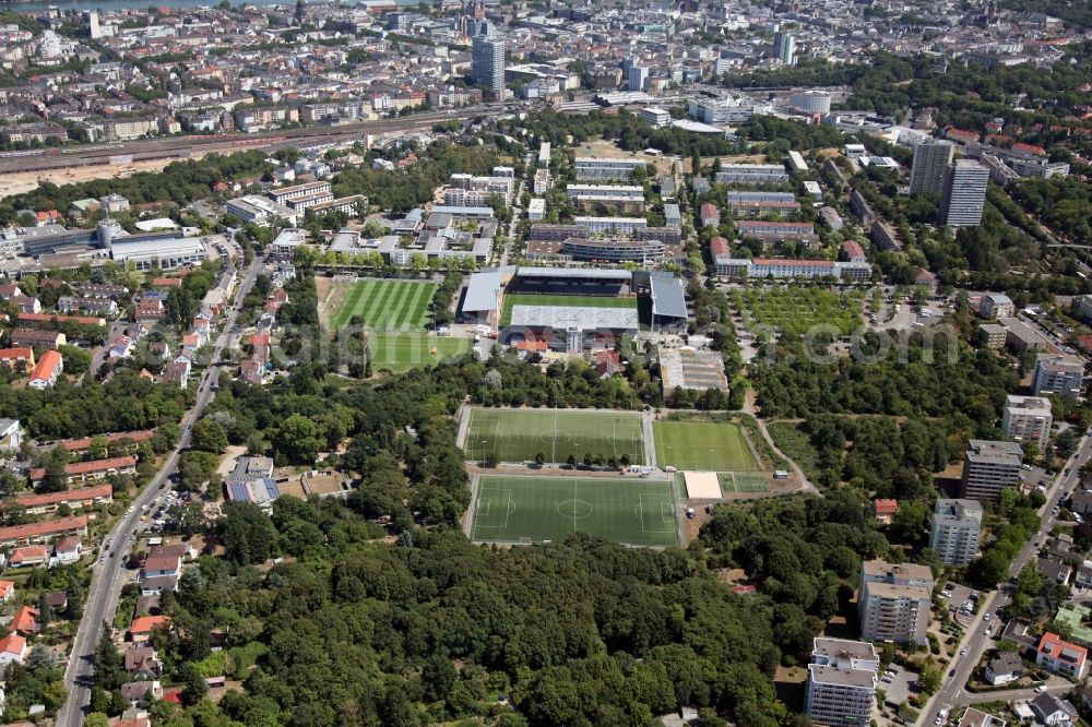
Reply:
<svg viewBox="0 0 1092 727"><path fill-rule="evenodd" d="M539 452L547 462L578 462L593 457L621 458L644 464L641 415L636 412L583 409L473 409L463 450L467 460L530 462Z"/></svg>

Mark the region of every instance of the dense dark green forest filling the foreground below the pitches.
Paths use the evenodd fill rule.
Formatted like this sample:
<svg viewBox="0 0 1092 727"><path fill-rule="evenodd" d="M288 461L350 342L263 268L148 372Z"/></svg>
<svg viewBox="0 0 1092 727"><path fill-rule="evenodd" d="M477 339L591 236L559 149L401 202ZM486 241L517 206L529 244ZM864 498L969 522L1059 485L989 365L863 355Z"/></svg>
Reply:
<svg viewBox="0 0 1092 727"><path fill-rule="evenodd" d="M850 491L723 506L688 552L580 534L494 549L446 529L380 544L381 528L336 501L285 498L272 519L232 505L217 526L227 557L201 558L164 596L173 625L153 644L188 706L153 714L171 726L604 727L688 705L702 725L724 725L715 713L803 725L772 676L806 660L822 619L847 608L862 556L887 553L866 512ZM734 567L759 595L714 577ZM117 658L100 656L98 689L116 689ZM201 678L221 674L245 692L214 705Z"/></svg>

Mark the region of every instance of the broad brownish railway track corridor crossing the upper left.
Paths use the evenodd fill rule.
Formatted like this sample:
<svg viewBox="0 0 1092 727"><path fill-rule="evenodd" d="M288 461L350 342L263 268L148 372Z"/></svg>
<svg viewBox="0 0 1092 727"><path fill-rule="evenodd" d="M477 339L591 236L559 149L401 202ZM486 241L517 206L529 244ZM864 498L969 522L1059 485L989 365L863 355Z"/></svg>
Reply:
<svg viewBox="0 0 1092 727"><path fill-rule="evenodd" d="M74 167L109 165L111 157L132 156L134 160L186 157L193 151L245 152L251 148L306 147L359 140L364 134L383 134L431 128L443 121L466 121L478 116L497 115L503 104L484 104L447 111L412 114L393 119L360 121L336 127L282 129L257 134L233 133L216 135L166 136L117 144L72 146L57 153L43 152L33 156L0 157L0 175L17 171L47 171Z"/></svg>

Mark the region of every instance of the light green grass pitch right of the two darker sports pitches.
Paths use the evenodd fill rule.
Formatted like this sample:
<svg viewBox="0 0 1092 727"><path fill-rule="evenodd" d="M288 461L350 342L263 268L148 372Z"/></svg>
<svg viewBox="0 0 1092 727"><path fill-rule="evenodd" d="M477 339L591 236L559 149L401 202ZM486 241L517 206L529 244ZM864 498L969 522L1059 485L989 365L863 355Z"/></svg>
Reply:
<svg viewBox="0 0 1092 727"><path fill-rule="evenodd" d="M699 472L761 469L744 432L734 424L655 421L656 464Z"/></svg>

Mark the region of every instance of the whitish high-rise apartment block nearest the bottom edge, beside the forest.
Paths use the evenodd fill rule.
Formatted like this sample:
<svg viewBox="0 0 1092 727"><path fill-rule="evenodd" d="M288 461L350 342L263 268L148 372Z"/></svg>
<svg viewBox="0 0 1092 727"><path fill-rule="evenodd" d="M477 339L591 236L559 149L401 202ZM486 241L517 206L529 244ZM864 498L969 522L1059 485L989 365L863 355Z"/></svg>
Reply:
<svg viewBox="0 0 1092 727"><path fill-rule="evenodd" d="M817 637L808 665L805 706L817 725L862 727L876 704L876 648L860 641Z"/></svg>

